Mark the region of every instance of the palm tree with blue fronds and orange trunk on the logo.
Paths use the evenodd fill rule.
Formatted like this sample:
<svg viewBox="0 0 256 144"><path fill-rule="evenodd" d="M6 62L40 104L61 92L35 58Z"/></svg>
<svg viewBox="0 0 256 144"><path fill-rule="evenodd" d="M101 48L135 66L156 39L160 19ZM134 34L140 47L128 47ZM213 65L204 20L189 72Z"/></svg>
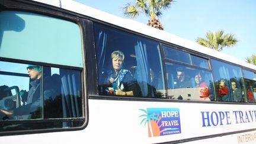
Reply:
<svg viewBox="0 0 256 144"><path fill-rule="evenodd" d="M152 114L148 115L148 111L143 110L143 109L139 109L139 110L141 110L145 113L145 114L142 114L139 116L139 117L144 117L144 119L140 122L140 124L142 124L144 122L145 123L144 125L146 125L146 123L148 123L149 130L150 130L150 136L153 136L151 120L159 120L158 117L155 116L156 113L152 113Z"/></svg>

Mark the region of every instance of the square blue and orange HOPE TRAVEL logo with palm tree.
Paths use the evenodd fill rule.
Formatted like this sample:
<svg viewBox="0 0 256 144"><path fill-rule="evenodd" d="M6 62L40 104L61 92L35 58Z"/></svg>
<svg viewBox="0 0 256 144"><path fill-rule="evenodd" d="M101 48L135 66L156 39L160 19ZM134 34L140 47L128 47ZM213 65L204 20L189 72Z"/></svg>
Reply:
<svg viewBox="0 0 256 144"><path fill-rule="evenodd" d="M179 108L147 108L139 109L144 114L140 124L148 124L148 136L165 136L181 133Z"/></svg>

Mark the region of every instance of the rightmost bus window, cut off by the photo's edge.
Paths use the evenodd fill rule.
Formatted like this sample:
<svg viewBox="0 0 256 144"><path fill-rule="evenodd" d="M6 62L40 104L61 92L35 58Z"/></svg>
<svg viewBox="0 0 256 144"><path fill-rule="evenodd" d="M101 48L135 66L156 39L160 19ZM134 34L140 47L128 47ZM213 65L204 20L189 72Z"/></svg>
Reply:
<svg viewBox="0 0 256 144"><path fill-rule="evenodd" d="M244 81L246 88L247 101L249 103L255 103L256 100L256 74L245 69L242 70L244 73Z"/></svg>

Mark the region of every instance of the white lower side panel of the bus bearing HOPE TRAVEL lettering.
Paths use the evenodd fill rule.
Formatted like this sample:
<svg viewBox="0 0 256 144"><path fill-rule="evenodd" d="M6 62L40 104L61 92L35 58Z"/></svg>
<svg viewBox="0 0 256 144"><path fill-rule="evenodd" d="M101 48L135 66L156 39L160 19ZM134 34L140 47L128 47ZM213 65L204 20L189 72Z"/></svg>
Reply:
<svg viewBox="0 0 256 144"><path fill-rule="evenodd" d="M159 143L186 142L201 137L207 143L222 143L223 140L231 143L256 142L252 138L256 135L255 131L227 135L239 130L255 129L254 105L237 107L225 104L91 99L88 104L89 123L84 130L4 136L0 140L8 143L17 142L17 139L20 143L47 143L52 139L58 139L60 143ZM153 120L152 115L148 119L151 113L158 120ZM151 130L148 121L151 121ZM180 131L168 128L177 125ZM158 132L163 130L165 133L158 136ZM153 136L149 133L153 133ZM205 143L205 140L195 142Z"/></svg>

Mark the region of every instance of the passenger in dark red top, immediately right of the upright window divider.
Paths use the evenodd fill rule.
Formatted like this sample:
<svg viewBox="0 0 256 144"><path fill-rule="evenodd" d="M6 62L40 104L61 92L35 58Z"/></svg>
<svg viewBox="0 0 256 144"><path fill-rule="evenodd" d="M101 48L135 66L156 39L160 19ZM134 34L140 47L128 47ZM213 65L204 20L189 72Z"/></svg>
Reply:
<svg viewBox="0 0 256 144"><path fill-rule="evenodd" d="M219 87L218 87L218 100L219 101L229 101L229 90L225 85L225 80L220 79L219 81Z"/></svg>

